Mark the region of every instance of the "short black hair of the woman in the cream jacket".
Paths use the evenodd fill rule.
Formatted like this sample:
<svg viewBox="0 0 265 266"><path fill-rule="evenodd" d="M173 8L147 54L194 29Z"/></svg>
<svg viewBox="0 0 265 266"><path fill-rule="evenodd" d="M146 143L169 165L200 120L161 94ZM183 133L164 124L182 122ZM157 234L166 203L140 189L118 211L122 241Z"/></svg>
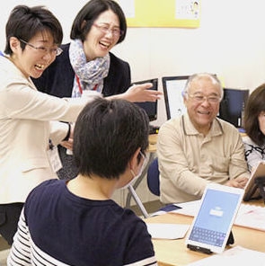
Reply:
<svg viewBox="0 0 265 266"><path fill-rule="evenodd" d="M54 43L60 46L63 40L63 30L56 16L46 7L38 5L29 7L27 5L17 5L10 13L5 25L5 49L4 53L12 55L9 40L16 37L19 40L29 41L38 32L49 31ZM25 44L21 42L22 49Z"/></svg>

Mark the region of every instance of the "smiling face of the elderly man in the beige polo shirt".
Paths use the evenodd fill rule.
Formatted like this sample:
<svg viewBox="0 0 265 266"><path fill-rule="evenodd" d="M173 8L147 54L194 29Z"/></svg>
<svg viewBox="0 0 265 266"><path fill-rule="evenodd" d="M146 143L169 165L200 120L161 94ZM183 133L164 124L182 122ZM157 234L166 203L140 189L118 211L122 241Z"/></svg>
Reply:
<svg viewBox="0 0 265 266"><path fill-rule="evenodd" d="M220 102L208 102L206 98L197 102L196 95L221 98L220 86L209 76L201 76L191 81L189 95L184 98L193 126L206 136L219 111Z"/></svg>

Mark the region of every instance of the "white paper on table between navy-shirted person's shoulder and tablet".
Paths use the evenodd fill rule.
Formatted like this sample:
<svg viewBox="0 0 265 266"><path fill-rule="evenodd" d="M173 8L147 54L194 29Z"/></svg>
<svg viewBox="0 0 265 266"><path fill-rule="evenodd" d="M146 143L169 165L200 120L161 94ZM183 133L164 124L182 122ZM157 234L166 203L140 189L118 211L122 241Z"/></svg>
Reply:
<svg viewBox="0 0 265 266"><path fill-rule="evenodd" d="M153 224L146 223L147 230L152 238L178 239L183 238L190 225L181 224Z"/></svg>

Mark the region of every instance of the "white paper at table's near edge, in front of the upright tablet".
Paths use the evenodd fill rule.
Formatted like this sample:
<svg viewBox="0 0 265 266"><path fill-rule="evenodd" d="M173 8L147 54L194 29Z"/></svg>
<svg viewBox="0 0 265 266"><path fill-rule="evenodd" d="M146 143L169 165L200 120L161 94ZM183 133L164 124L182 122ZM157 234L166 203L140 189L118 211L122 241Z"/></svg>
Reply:
<svg viewBox="0 0 265 266"><path fill-rule="evenodd" d="M256 252L242 246L235 246L224 253L215 254L208 258L199 260L198 262L190 263L188 266L256 266L265 265L265 253Z"/></svg>

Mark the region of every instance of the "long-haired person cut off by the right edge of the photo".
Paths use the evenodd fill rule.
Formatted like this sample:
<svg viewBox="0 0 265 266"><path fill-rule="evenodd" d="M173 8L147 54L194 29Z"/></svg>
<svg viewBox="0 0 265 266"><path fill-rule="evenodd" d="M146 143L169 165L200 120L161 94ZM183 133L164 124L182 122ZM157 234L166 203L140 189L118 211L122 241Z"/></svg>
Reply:
<svg viewBox="0 0 265 266"><path fill-rule="evenodd" d="M250 95L244 111L243 137L245 157L249 170L265 160L265 84L258 86Z"/></svg>

